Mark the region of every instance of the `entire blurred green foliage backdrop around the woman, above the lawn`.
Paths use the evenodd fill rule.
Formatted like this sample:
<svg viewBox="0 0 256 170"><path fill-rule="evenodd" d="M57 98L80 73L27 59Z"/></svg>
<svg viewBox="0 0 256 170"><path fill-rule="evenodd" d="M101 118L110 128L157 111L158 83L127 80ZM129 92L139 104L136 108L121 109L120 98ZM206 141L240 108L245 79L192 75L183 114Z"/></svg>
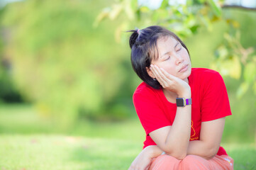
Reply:
<svg viewBox="0 0 256 170"><path fill-rule="evenodd" d="M135 0L118 1L113 6L113 1L103 0L26 0L8 4L1 11L4 41L0 60L8 61L10 67L0 67L0 95L13 89L13 96L22 94L23 100L35 104L39 118L43 118L38 129L49 126L48 132L52 120L62 128L86 123L89 131L90 120L126 120L136 115L132 95L140 79L130 65L129 35L124 31L160 24L174 28L183 37L193 67L216 68L223 74L233 111L226 121L224 140L252 142L256 120L252 89L256 87L252 86L255 59L250 49L255 49L255 13L188 2L193 3L191 10L199 13L191 14L190 8L184 6L175 9L167 1L157 10L138 6ZM241 51L247 52L246 60L242 60ZM36 129L37 123L26 126L22 119L30 115L10 116L24 123L15 128L6 121L13 118L4 117L6 126L1 132L12 127L11 132L21 127L26 127L22 132ZM33 117L30 120L36 122Z"/></svg>

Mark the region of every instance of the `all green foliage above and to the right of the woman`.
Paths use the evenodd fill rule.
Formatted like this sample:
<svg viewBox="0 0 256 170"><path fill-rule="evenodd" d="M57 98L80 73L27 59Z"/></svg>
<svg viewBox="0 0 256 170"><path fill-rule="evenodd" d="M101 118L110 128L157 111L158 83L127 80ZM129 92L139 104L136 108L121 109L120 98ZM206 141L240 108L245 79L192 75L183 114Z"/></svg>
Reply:
<svg viewBox="0 0 256 170"><path fill-rule="evenodd" d="M226 81L233 116L227 118L225 140L254 141L255 11L222 8L223 1L211 0L190 0L186 5L164 0L157 9L139 6L137 2L115 1L99 13L95 25L100 26L103 21L113 23L122 18L116 31L160 25L177 33L189 47L193 67L216 69Z"/></svg>

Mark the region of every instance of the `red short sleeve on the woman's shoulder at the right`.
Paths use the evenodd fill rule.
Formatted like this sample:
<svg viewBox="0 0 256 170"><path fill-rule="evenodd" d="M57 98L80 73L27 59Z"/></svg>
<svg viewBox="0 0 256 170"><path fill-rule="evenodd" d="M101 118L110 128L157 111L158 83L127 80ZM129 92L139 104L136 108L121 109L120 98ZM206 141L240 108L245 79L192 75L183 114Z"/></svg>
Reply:
<svg viewBox="0 0 256 170"><path fill-rule="evenodd" d="M201 121L216 120L232 115L228 93L221 74L211 72L205 77L203 96L201 98Z"/></svg>

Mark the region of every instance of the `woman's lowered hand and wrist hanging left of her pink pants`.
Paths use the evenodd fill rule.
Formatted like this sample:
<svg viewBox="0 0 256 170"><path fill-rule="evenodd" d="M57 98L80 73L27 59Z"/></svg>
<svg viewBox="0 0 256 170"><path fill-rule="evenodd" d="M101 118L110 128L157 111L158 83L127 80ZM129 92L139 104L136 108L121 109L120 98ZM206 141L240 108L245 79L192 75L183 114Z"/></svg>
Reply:
<svg viewBox="0 0 256 170"><path fill-rule="evenodd" d="M157 146L148 146L143 149L140 154L130 164L128 170L148 170L152 159L158 157L162 153L162 150Z"/></svg>

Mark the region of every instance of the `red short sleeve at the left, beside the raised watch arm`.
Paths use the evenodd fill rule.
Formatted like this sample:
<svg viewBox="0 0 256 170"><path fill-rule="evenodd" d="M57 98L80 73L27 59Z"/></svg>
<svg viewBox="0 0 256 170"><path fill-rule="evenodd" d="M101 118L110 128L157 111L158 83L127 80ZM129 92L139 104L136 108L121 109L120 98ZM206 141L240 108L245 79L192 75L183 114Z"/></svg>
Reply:
<svg viewBox="0 0 256 170"><path fill-rule="evenodd" d="M143 91L133 94L133 104L147 135L154 130L171 125L162 109L162 103L153 92Z"/></svg>

